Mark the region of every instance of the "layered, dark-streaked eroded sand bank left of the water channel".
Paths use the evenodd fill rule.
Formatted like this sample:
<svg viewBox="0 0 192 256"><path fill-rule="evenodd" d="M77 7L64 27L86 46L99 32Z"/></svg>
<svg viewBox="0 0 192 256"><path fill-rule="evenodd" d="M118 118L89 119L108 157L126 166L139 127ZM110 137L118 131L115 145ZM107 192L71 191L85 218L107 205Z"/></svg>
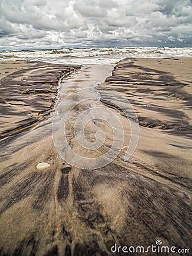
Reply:
<svg viewBox="0 0 192 256"><path fill-rule="evenodd" d="M2 61L0 138L26 131L49 115L55 107L60 79L78 68L38 61Z"/></svg>

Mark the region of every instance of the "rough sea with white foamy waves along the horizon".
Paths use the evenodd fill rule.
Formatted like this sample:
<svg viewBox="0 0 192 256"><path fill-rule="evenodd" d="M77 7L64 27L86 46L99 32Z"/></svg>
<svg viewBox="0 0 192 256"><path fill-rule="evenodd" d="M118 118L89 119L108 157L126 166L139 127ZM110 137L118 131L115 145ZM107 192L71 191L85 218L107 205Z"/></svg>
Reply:
<svg viewBox="0 0 192 256"><path fill-rule="evenodd" d="M0 60L58 64L116 64L126 57L192 57L192 47L61 48L0 51Z"/></svg>

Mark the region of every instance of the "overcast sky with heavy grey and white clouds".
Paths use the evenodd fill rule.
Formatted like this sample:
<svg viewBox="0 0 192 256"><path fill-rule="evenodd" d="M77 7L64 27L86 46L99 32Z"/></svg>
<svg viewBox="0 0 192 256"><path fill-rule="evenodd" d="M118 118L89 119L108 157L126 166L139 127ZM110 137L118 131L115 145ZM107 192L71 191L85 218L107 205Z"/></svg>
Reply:
<svg viewBox="0 0 192 256"><path fill-rule="evenodd" d="M0 49L191 47L192 0L0 0Z"/></svg>

